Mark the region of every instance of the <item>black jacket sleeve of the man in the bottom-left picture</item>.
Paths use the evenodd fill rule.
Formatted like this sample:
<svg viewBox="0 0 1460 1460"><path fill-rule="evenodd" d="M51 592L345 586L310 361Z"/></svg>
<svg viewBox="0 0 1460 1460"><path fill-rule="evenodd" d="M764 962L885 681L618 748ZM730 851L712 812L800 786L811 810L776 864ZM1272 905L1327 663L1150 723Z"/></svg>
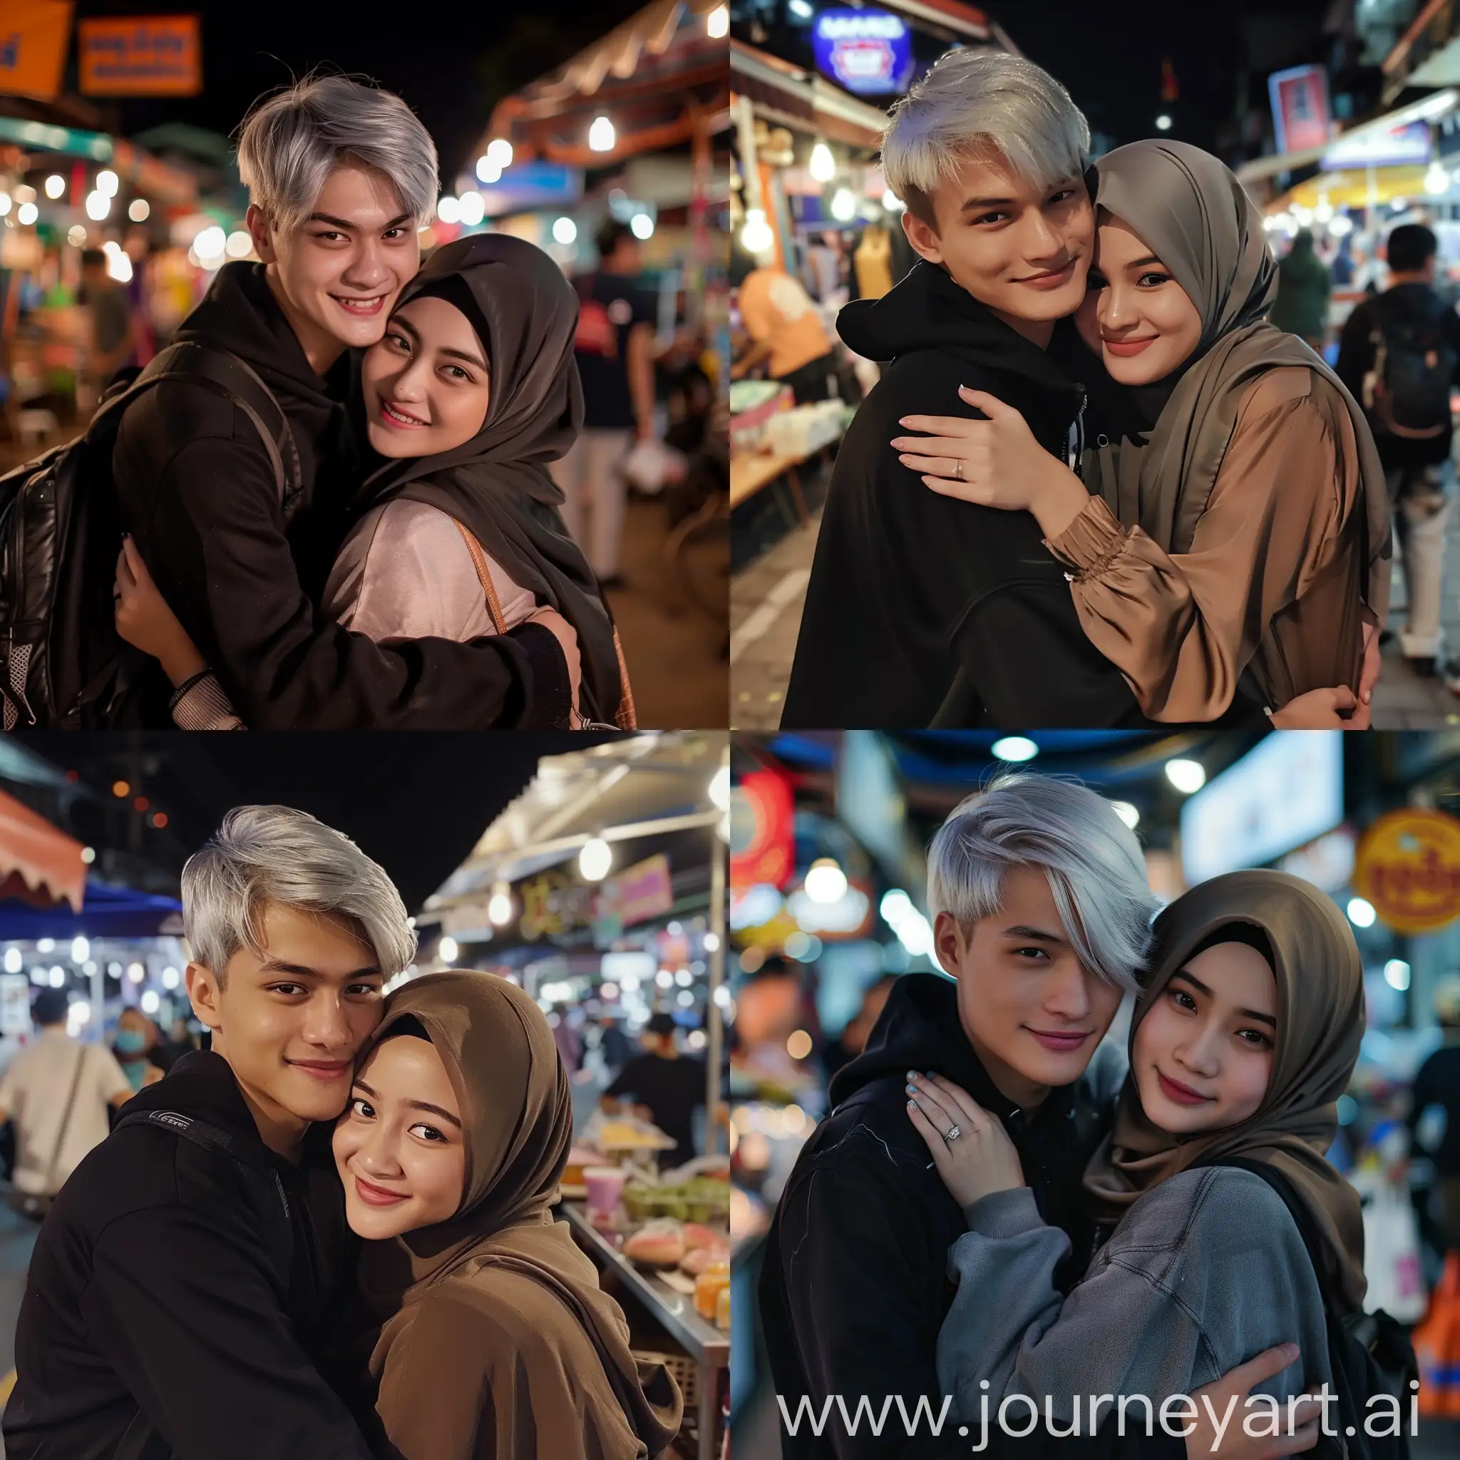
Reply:
<svg viewBox="0 0 1460 1460"><path fill-rule="evenodd" d="M269 1254L235 1210L165 1206L111 1222L80 1313L174 1460L372 1460L295 1342Z"/></svg>

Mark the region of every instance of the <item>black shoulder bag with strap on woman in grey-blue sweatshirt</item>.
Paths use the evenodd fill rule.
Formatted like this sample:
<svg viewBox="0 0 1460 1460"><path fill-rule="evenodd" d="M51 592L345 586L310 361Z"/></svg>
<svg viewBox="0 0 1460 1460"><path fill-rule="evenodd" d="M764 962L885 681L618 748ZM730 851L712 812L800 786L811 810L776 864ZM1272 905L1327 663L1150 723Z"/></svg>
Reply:
<svg viewBox="0 0 1460 1460"><path fill-rule="evenodd" d="M1333 1364L1333 1387L1337 1390L1337 1419L1334 1428L1348 1442L1348 1460L1409 1460L1409 1415L1415 1396L1412 1384L1418 1384L1419 1365L1406 1329L1387 1313L1346 1313L1336 1301L1333 1283L1323 1263L1323 1244L1314 1226L1308 1207L1298 1199L1292 1186L1266 1161L1247 1161L1234 1156L1218 1162L1237 1167L1260 1177L1282 1197L1308 1260L1318 1279L1323 1295L1323 1311L1327 1315L1329 1359ZM1397 1435L1371 1435L1364 1428L1369 1410L1368 1400L1387 1394L1399 1403L1400 1432ZM1390 1406L1383 1413L1390 1413ZM1332 1410L1330 1410L1332 1413ZM1387 1428L1387 1425L1386 1425ZM1320 1437L1315 1456L1339 1454L1336 1447L1324 1451L1329 1441Z"/></svg>

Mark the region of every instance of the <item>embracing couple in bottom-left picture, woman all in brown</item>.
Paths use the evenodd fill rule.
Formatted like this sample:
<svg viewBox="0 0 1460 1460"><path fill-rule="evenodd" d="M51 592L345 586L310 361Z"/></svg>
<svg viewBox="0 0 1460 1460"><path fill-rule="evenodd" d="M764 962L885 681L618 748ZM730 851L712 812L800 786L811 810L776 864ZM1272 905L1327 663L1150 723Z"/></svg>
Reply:
<svg viewBox="0 0 1460 1460"><path fill-rule="evenodd" d="M182 872L212 1048L131 1099L41 1228L12 1460L645 1460L682 1399L550 1207L572 1098L492 974L388 999L385 872L245 806Z"/></svg>

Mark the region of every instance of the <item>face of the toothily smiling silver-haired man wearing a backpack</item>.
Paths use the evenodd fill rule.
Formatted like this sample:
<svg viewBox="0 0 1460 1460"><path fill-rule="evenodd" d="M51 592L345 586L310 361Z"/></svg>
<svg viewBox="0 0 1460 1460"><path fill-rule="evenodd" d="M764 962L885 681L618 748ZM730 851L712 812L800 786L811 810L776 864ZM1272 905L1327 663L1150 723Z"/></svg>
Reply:
<svg viewBox="0 0 1460 1460"><path fill-rule="evenodd" d="M250 207L248 232L307 347L312 342L305 334L346 349L374 345L402 286L420 267L416 220L402 210L394 184L352 162L326 178L296 228L273 228Z"/></svg>

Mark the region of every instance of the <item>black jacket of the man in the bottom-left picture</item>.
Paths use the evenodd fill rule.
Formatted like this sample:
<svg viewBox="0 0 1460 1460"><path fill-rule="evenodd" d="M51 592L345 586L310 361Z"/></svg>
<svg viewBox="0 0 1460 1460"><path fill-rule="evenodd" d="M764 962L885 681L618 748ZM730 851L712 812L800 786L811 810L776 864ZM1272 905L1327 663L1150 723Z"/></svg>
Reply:
<svg viewBox="0 0 1460 1460"><path fill-rule="evenodd" d="M137 1110L193 1115L273 1162L289 1202L288 1283L270 1240L282 1210L231 1156L152 1126L114 1132L36 1238L6 1456L112 1460L140 1407L153 1431L145 1460L369 1460L311 1358L355 1276L328 1129L298 1167L269 1156L228 1063L204 1051L126 1114Z"/></svg>

